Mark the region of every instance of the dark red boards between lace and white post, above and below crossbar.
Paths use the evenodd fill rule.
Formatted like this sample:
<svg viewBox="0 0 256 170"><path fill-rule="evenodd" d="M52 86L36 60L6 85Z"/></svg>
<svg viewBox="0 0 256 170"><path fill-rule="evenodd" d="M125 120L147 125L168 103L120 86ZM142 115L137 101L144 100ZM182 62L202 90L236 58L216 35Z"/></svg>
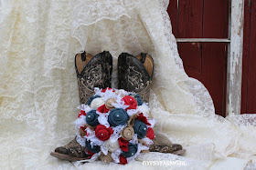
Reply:
<svg viewBox="0 0 256 170"><path fill-rule="evenodd" d="M228 38L228 1L170 0L168 13L176 38ZM213 98L216 114L225 116L225 43L178 43L187 75L197 78Z"/></svg>

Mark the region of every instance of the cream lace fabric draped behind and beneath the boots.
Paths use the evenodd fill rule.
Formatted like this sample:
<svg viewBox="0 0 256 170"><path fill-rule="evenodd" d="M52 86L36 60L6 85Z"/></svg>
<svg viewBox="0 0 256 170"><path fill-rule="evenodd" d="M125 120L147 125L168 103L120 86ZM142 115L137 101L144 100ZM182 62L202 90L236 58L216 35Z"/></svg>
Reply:
<svg viewBox="0 0 256 170"><path fill-rule="evenodd" d="M248 168L255 163L256 116L214 114L208 90L184 71L166 13L168 0L12 0L0 5L0 166L75 168L49 153L75 136L80 102L74 56L81 50L91 55L110 51L113 87L118 84L118 55L144 52L154 57L150 106L155 127L184 145L187 154L148 153L125 168L180 160L186 165L147 167L206 169L229 156L252 160ZM102 166L96 162L76 168Z"/></svg>

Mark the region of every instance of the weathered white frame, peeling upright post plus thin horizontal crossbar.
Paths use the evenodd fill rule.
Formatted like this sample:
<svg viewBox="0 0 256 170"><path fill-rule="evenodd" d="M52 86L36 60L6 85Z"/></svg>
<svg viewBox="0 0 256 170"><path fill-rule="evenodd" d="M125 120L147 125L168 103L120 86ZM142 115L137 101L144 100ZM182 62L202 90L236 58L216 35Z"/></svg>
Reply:
<svg viewBox="0 0 256 170"><path fill-rule="evenodd" d="M240 115L244 23L244 0L229 3L229 38L176 38L177 43L228 43L226 116Z"/></svg>

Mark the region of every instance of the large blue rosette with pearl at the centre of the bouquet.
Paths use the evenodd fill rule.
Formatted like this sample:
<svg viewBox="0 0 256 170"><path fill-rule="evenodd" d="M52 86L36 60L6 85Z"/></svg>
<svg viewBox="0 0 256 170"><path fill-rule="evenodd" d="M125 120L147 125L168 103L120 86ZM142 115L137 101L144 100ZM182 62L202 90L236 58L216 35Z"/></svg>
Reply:
<svg viewBox="0 0 256 170"><path fill-rule="evenodd" d="M125 125L129 120L129 116L126 111L122 108L112 109L108 117L108 122L111 126Z"/></svg>

